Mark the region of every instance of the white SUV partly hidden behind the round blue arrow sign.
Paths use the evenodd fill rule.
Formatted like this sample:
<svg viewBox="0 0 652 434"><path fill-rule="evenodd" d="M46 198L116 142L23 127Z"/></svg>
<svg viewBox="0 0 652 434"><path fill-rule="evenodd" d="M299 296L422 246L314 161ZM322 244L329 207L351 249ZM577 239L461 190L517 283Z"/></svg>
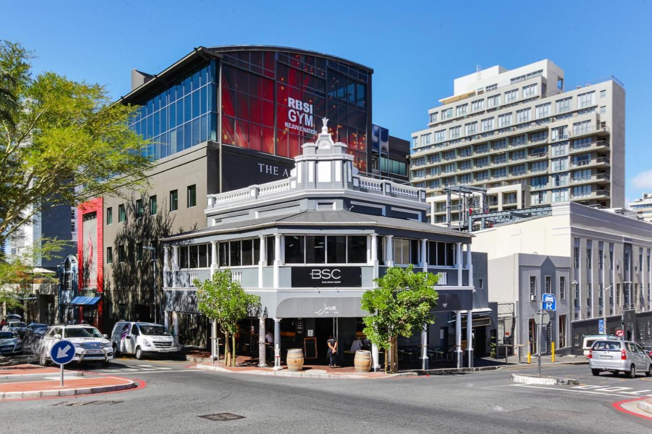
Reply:
<svg viewBox="0 0 652 434"><path fill-rule="evenodd" d="M84 324L57 325L50 327L40 340L37 354L42 366L48 366L52 345L62 339L74 345L74 362L102 362L102 366L108 366L109 360L113 358L111 341L102 336L95 327Z"/></svg>

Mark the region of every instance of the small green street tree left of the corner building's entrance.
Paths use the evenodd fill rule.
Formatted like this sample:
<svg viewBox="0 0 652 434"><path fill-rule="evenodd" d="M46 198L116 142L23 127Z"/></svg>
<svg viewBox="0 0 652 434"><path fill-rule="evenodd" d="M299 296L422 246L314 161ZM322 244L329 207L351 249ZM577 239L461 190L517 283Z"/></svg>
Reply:
<svg viewBox="0 0 652 434"><path fill-rule="evenodd" d="M197 306L201 313L215 321L224 333L224 366L235 366L235 334L238 321L257 316L261 309L260 297L244 291L239 282L233 281L231 270L218 270L211 280L194 281L197 290ZM229 346L233 343L233 356Z"/></svg>

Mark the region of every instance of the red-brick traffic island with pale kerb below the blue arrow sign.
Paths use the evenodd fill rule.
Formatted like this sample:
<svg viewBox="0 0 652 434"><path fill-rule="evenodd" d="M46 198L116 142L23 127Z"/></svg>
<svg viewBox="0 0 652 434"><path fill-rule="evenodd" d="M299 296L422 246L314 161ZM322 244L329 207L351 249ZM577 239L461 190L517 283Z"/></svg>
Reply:
<svg viewBox="0 0 652 434"><path fill-rule="evenodd" d="M55 398L117 392L139 386L121 377L93 375L82 371L64 371L64 386L59 386L59 368L35 365L0 369L0 399Z"/></svg>

